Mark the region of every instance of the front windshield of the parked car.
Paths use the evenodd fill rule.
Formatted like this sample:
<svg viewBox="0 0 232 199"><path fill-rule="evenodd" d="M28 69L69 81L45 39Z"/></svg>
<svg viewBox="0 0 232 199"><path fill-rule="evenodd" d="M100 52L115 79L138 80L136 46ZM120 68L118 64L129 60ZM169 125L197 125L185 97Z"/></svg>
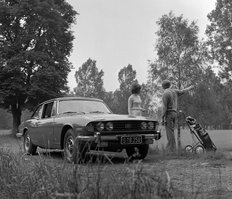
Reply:
<svg viewBox="0 0 232 199"><path fill-rule="evenodd" d="M99 101L62 100L59 102L58 113L111 113L111 111Z"/></svg>

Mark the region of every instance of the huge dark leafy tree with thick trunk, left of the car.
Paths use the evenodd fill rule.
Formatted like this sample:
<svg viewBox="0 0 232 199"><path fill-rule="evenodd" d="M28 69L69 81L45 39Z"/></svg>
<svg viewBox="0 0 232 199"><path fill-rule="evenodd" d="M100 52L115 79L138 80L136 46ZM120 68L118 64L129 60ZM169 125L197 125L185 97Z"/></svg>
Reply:
<svg viewBox="0 0 232 199"><path fill-rule="evenodd" d="M15 133L23 109L68 91L77 13L64 0L4 0L0 13L0 102Z"/></svg>

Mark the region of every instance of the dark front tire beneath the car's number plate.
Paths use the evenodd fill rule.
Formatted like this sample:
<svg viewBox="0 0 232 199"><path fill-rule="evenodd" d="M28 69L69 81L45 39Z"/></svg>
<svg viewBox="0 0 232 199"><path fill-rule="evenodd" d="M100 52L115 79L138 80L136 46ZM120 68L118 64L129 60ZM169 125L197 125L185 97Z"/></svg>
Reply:
<svg viewBox="0 0 232 199"><path fill-rule="evenodd" d="M148 149L148 144L137 147L127 147L126 153L129 159L144 159L148 154Z"/></svg>

